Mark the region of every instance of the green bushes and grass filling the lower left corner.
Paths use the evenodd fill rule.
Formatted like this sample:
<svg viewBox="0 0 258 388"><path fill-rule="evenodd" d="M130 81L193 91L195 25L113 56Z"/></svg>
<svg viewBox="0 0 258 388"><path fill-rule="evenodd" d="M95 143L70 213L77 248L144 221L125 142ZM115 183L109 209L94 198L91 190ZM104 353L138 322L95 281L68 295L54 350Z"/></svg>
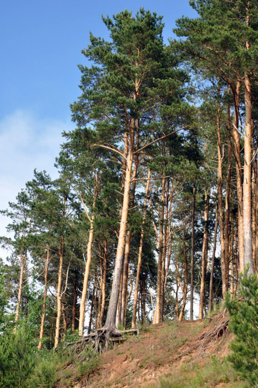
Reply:
<svg viewBox="0 0 258 388"><path fill-rule="evenodd" d="M52 350L37 349L28 327L17 327L0 336L0 388L52 388L69 379L70 387L88 377L99 363L99 355L90 344L79 354L62 344ZM74 370L76 373L74 373Z"/></svg>

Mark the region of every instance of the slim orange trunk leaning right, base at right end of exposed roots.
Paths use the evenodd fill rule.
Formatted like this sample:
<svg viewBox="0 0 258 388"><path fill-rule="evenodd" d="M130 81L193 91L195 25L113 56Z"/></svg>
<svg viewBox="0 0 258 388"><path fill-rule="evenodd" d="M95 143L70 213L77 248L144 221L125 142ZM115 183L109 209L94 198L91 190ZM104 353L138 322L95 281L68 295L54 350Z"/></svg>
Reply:
<svg viewBox="0 0 258 388"><path fill-rule="evenodd" d="M138 252L138 264L137 264L137 273L136 273L136 282L135 282L135 294L134 294L134 305L133 305L133 320L132 320L132 328L135 327L136 322L136 310L137 310L137 300L138 300L138 287L139 287L139 279L140 279L140 268L141 268L141 257L142 257L142 248L143 248L143 239L144 239L144 225L146 221L146 213L147 213L147 198L150 188L150 178L151 178L151 170L148 169L147 175L147 184L145 187L145 198L144 198L144 208L143 208L143 220L140 234L140 245Z"/></svg>

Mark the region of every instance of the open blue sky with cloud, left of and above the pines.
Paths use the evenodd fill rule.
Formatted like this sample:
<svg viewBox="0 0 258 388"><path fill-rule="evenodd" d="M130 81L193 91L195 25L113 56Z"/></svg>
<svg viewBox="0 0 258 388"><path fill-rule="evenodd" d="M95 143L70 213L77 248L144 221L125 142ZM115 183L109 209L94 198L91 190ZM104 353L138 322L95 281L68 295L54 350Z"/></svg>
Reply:
<svg viewBox="0 0 258 388"><path fill-rule="evenodd" d="M9 0L0 12L0 209L14 201L34 168L53 167L63 130L73 128L69 104L80 95L77 64L89 31L108 37L101 15L144 7L164 16L164 42L175 20L195 17L188 0ZM0 219L0 235L6 220Z"/></svg>

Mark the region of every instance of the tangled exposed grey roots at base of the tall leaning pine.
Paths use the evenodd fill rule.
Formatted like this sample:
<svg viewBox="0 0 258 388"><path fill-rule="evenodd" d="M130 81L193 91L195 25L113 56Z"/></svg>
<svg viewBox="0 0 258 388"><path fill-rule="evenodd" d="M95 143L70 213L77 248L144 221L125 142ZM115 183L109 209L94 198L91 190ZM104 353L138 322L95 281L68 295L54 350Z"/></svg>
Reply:
<svg viewBox="0 0 258 388"><path fill-rule="evenodd" d="M89 345L91 351L102 353L103 350L107 350L112 343L122 342L126 340L127 338L124 337L125 334L136 334L138 336L139 330L118 330L116 328L110 329L107 327L102 327L101 329L98 329L95 333L83 336L77 341L64 342L63 347L69 347L69 350L76 354L77 360L82 361L84 359L83 354L86 353L85 351Z"/></svg>

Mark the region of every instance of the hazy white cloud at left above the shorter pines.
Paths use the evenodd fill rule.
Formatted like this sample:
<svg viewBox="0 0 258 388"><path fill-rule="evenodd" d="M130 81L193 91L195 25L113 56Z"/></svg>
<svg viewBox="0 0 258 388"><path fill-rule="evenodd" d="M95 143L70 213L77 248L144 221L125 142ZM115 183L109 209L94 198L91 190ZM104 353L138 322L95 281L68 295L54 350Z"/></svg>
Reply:
<svg viewBox="0 0 258 388"><path fill-rule="evenodd" d="M0 121L0 209L15 201L17 193L33 178L34 169L57 177L54 162L64 141L61 133L71 128L70 121L42 120L21 110ZM0 236L6 234L8 222L0 216ZM5 255L0 251L0 257Z"/></svg>

